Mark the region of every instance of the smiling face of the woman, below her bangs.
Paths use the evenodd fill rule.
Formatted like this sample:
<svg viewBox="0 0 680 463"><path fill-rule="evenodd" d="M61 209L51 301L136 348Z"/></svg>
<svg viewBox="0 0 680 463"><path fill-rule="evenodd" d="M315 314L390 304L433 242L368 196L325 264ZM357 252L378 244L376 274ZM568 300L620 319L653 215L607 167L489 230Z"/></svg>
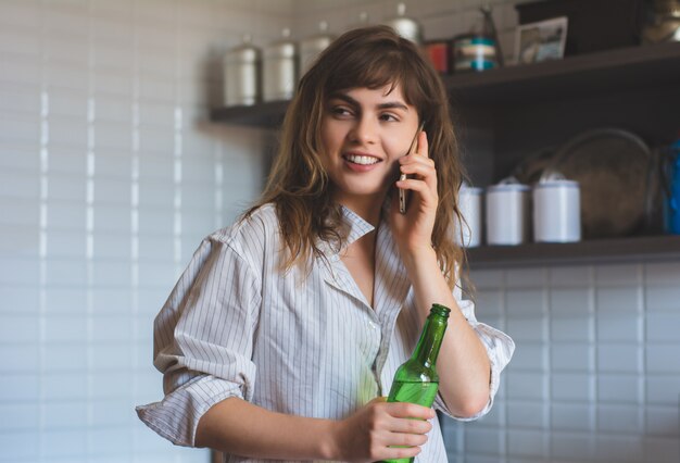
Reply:
<svg viewBox="0 0 680 463"><path fill-rule="evenodd" d="M322 121L323 163L341 204L382 204L399 176L396 160L406 154L418 113L401 87L352 88L331 95ZM356 209L354 209L356 210Z"/></svg>

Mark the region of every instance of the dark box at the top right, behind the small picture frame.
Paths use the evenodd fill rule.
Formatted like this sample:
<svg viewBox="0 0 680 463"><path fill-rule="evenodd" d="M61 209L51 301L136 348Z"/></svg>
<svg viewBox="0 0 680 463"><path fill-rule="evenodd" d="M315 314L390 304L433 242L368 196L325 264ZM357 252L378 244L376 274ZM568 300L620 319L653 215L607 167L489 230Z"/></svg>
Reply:
<svg viewBox="0 0 680 463"><path fill-rule="evenodd" d="M565 55L640 45L643 0L545 0L515 8L519 24L567 16Z"/></svg>

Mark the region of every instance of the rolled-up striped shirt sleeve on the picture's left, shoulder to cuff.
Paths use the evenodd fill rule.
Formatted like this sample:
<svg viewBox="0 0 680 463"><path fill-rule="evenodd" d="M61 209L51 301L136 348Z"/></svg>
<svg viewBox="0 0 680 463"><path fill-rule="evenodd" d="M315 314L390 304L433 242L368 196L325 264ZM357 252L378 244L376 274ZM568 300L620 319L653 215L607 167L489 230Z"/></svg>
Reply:
<svg viewBox="0 0 680 463"><path fill-rule="evenodd" d="M230 397L252 400L261 281L228 242L203 240L154 322L165 397L137 414L160 436L194 446L201 416Z"/></svg>

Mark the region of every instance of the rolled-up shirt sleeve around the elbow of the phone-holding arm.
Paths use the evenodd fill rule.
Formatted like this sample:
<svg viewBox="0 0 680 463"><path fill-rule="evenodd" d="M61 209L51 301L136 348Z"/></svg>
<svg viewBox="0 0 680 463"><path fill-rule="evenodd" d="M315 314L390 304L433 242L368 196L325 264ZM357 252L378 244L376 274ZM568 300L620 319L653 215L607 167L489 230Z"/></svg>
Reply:
<svg viewBox="0 0 680 463"><path fill-rule="evenodd" d="M505 333L495 329L483 323L479 323L475 316L475 303L470 300L463 299L461 288L456 285L453 291L453 296L461 308L463 316L470 324L479 340L484 346L487 354L489 355L489 364L491 366L490 384L489 384L489 401L487 405L476 415L459 417L455 416L449 411L443 399L438 396L436 399L436 406L448 415L459 421L474 421L477 420L491 410L493 405L493 399L499 391L501 385L501 372L509 363L513 352L515 351L515 342Z"/></svg>

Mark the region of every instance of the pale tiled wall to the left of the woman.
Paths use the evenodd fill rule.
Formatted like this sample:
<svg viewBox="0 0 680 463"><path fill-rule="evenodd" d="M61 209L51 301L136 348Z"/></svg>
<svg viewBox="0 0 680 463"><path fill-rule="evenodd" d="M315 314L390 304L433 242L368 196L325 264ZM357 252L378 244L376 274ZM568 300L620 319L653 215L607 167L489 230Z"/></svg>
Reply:
<svg viewBox="0 0 680 463"><path fill-rule="evenodd" d="M206 96L275 8L278 29L290 2L0 0L0 462L207 461L134 405L161 398L178 272L262 188L270 136Z"/></svg>

